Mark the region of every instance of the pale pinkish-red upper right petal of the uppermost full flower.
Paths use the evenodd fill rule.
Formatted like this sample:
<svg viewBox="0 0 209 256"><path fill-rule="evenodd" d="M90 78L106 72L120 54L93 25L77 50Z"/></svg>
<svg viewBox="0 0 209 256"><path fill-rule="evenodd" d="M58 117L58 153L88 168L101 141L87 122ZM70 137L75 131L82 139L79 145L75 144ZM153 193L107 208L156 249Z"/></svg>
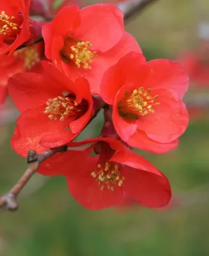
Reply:
<svg viewBox="0 0 209 256"><path fill-rule="evenodd" d="M90 41L94 50L107 52L121 40L124 31L123 13L111 4L95 4L79 11L80 26L73 38Z"/></svg>

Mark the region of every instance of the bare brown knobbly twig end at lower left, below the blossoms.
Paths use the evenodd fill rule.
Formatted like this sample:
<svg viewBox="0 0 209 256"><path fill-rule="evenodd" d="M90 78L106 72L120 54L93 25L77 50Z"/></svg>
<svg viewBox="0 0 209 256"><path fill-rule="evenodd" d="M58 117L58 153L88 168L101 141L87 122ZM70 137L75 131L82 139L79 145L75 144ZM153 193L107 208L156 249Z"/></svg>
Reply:
<svg viewBox="0 0 209 256"><path fill-rule="evenodd" d="M28 169L26 169L23 176L20 178L20 180L17 181L17 183L11 188L11 190L0 197L0 208L6 207L10 211L17 210L17 196L18 194L20 194L22 188L26 185L31 176L33 176L33 173L36 173L40 163L42 163L49 157L52 157L52 155L55 155L57 152L65 152L66 150L68 150L68 148L66 146L63 146L61 148L46 150L45 152L42 152L38 155L36 154L36 151L30 150L28 152L28 157L26 158L26 162L30 164Z"/></svg>

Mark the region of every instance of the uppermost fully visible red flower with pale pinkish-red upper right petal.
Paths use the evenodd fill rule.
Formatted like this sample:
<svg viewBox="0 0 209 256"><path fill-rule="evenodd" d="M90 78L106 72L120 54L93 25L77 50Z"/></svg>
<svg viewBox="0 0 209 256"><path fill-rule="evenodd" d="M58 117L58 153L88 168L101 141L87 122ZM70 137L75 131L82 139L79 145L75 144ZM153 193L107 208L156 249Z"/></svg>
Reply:
<svg viewBox="0 0 209 256"><path fill-rule="evenodd" d="M93 94L100 93L105 70L127 52L141 52L137 41L124 31L123 13L116 6L96 4L79 10L63 8L42 27L45 55L67 76L84 76Z"/></svg>

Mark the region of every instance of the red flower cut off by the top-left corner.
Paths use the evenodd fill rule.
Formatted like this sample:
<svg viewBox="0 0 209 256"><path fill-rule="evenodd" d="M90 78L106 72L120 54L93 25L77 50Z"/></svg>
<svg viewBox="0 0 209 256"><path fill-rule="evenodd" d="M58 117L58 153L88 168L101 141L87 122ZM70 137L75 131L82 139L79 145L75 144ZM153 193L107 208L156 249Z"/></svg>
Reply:
<svg viewBox="0 0 209 256"><path fill-rule="evenodd" d="M0 55L13 52L30 39L29 7L30 0L1 0Z"/></svg>

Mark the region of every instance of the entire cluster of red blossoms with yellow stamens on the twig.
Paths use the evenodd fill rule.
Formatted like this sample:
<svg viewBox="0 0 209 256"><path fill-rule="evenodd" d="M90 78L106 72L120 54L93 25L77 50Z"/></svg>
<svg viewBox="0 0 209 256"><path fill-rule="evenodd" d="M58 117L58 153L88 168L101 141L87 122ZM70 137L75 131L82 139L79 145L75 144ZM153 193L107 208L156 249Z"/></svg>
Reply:
<svg viewBox="0 0 209 256"><path fill-rule="evenodd" d="M0 3L1 101L8 90L21 113L13 149L26 157L28 150L67 145L38 173L65 176L70 194L86 208L125 198L166 206L169 180L133 148L160 154L178 145L188 125L184 69L168 59L147 62L114 5L79 9L64 1L37 22L29 12L44 14L34 2ZM100 136L74 141L100 110Z"/></svg>

